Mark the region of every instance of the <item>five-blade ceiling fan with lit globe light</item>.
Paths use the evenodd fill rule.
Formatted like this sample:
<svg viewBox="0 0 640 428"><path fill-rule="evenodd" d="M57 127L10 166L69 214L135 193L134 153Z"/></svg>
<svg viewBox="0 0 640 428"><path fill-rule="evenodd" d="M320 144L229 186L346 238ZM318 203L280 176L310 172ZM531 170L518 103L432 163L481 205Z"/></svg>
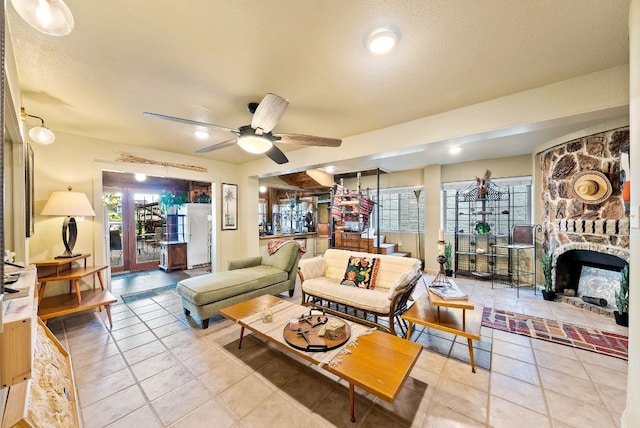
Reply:
<svg viewBox="0 0 640 428"><path fill-rule="evenodd" d="M146 117L171 120L174 122L185 123L187 125L224 129L225 131L235 134L235 137L230 140L223 141L212 146L203 147L202 149L197 150L196 153L207 153L214 150L220 150L233 146L237 143L243 150L249 153L264 153L274 162L283 164L289 162L289 159L287 159L282 150L280 150L274 143L323 147L339 147L340 144L342 144L342 140L338 138L315 137L303 134L273 134L271 131L276 127L288 106L289 100L286 98L268 93L259 104L249 103L247 108L249 112L253 113L251 125L244 125L238 129L158 113L144 112L142 114Z"/></svg>

